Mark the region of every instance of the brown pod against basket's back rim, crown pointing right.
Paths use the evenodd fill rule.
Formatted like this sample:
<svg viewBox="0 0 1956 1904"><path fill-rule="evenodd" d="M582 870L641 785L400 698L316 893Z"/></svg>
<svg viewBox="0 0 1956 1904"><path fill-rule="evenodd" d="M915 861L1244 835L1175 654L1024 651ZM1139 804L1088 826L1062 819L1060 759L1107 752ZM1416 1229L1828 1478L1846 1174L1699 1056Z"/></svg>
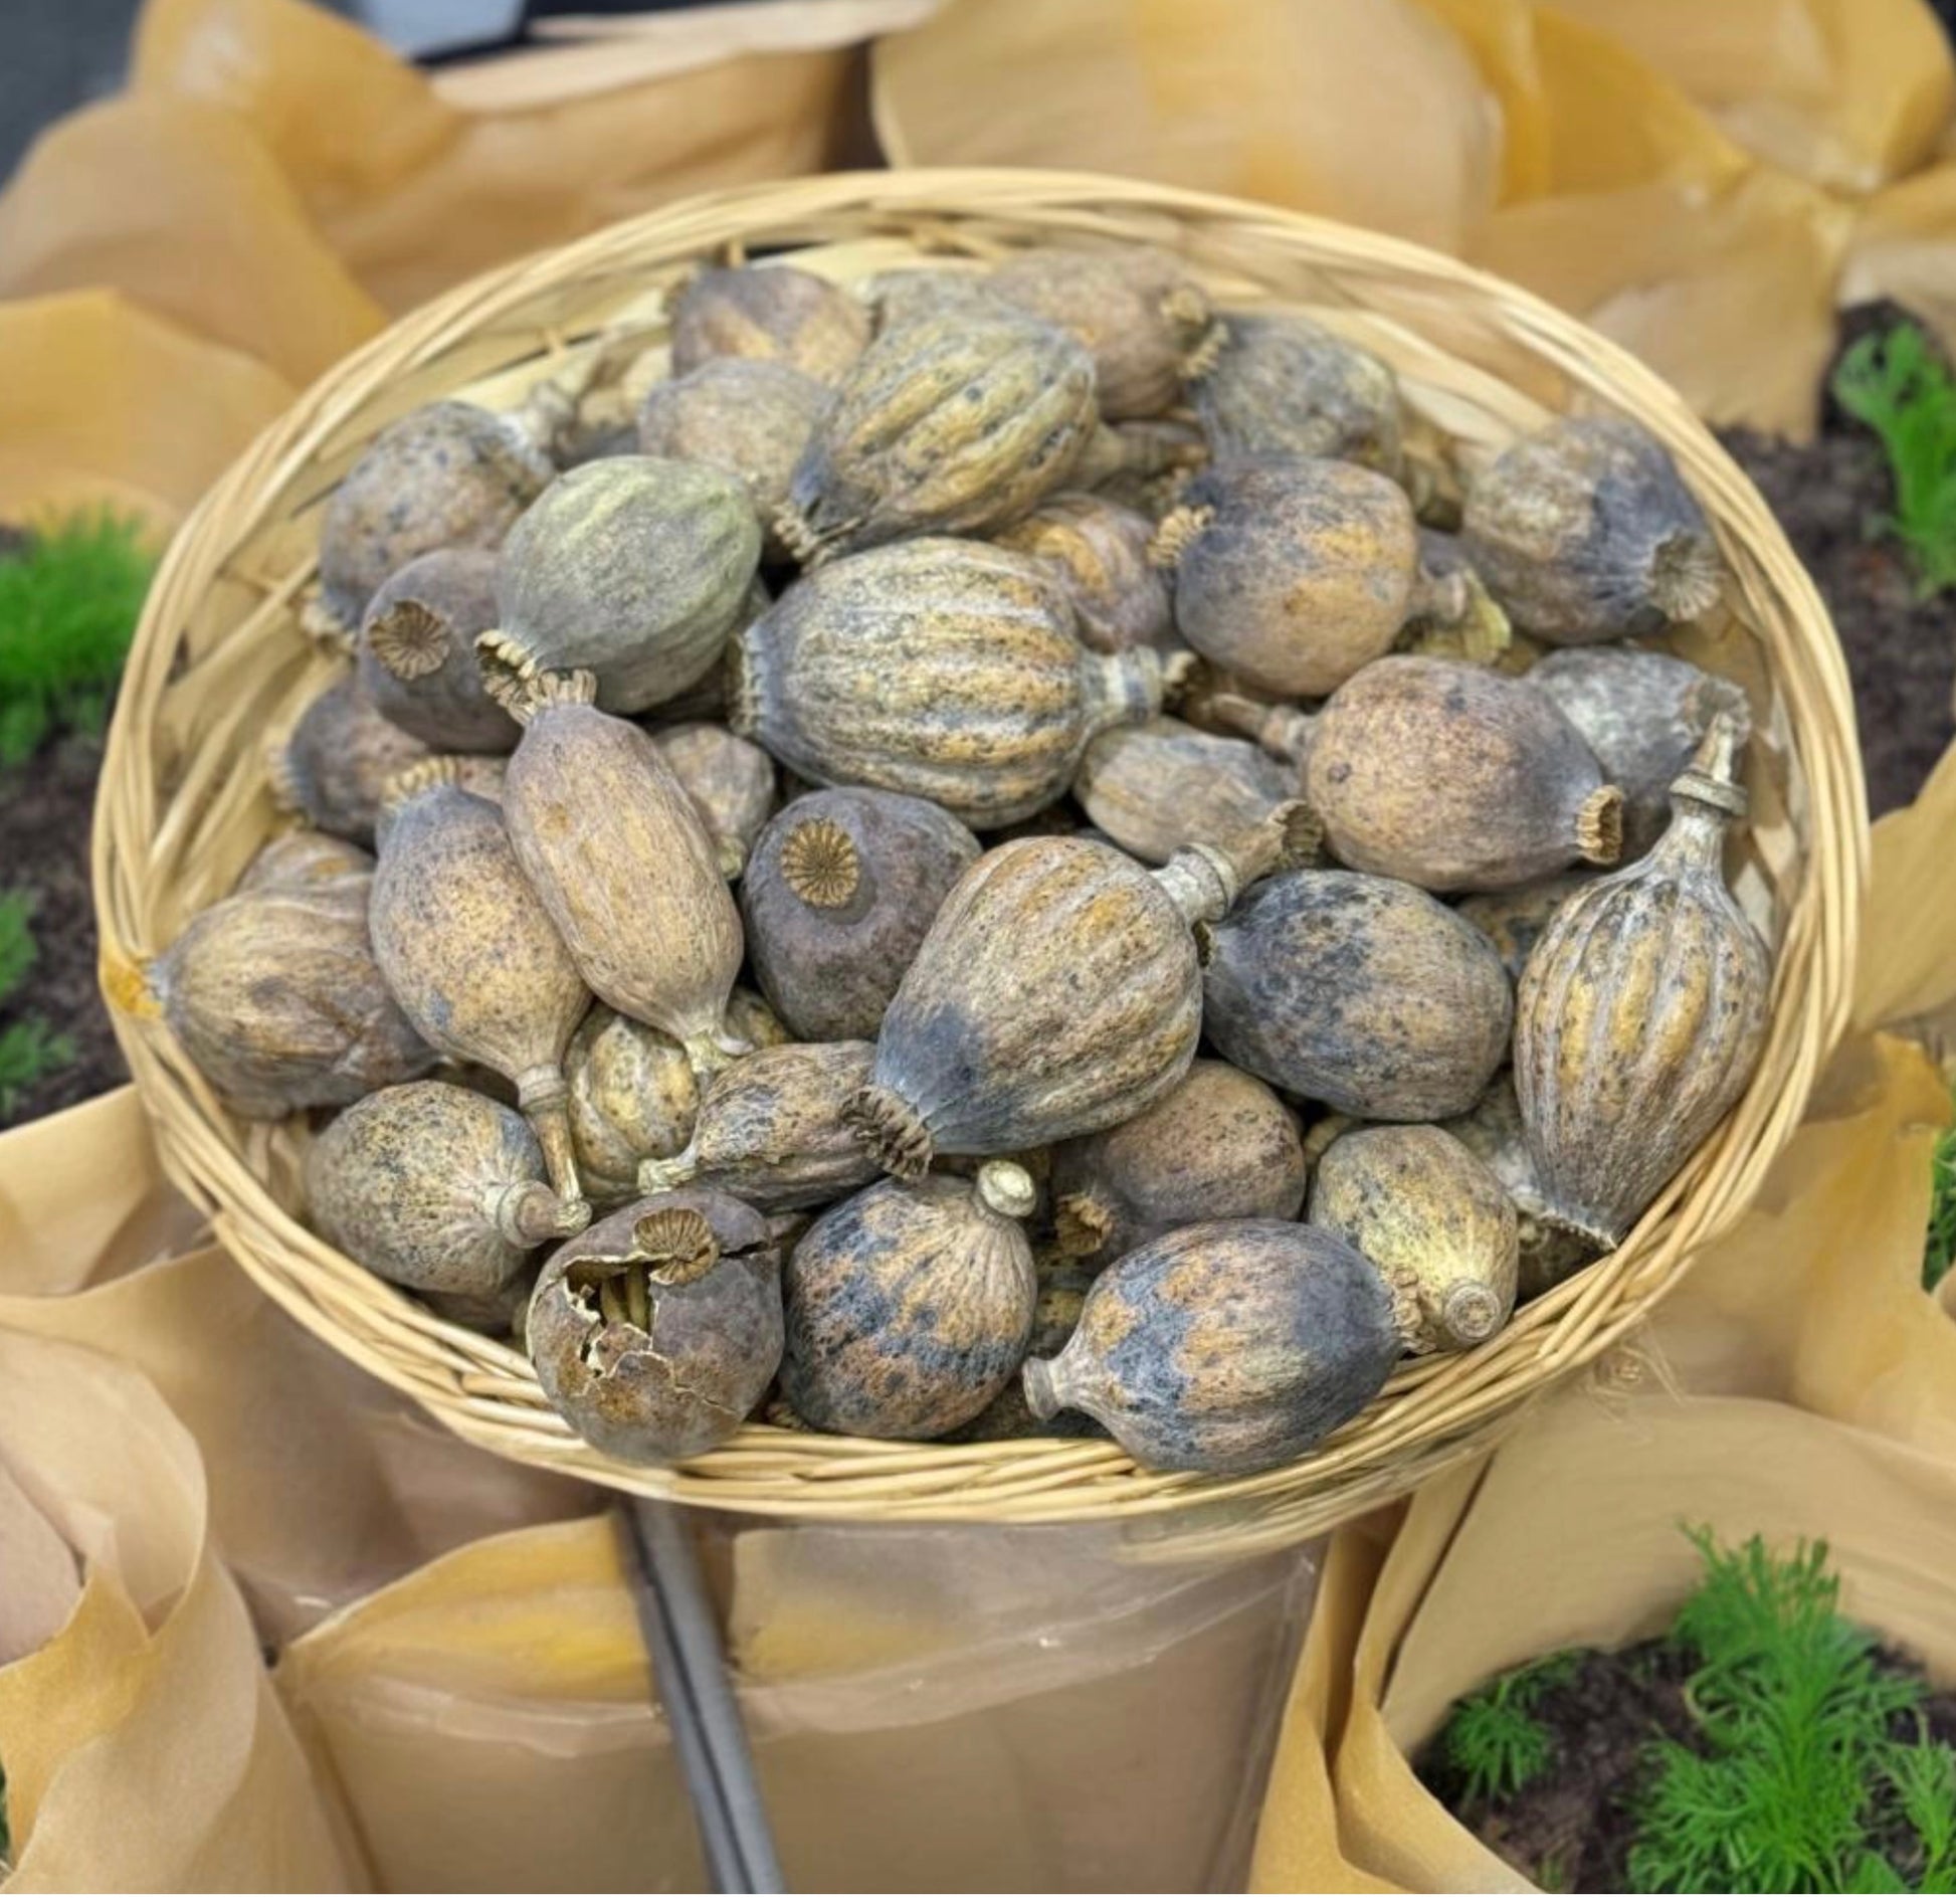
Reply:
<svg viewBox="0 0 1956 1904"><path fill-rule="evenodd" d="M1183 378L1222 348L1209 292L1179 258L1150 245L1021 250L986 280L1007 303L1070 331L1093 354L1093 391L1109 423L1160 417Z"/></svg>

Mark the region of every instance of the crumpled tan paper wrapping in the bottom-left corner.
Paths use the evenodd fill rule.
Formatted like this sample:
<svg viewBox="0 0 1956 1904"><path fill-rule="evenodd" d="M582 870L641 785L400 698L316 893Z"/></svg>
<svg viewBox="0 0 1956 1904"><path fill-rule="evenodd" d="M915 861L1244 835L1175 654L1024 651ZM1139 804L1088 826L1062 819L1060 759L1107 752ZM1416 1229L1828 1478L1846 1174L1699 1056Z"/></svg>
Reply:
<svg viewBox="0 0 1956 1904"><path fill-rule="evenodd" d="M155 1387L0 1329L0 1888L360 1888L211 1552L198 1446Z"/></svg>

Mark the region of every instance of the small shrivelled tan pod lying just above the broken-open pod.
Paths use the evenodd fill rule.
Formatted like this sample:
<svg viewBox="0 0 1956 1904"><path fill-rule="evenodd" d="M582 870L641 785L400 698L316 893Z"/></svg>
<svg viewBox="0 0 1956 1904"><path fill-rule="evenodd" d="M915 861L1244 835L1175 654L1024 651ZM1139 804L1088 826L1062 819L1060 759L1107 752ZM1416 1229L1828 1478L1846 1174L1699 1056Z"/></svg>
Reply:
<svg viewBox="0 0 1956 1904"><path fill-rule="evenodd" d="M644 1196L710 1184L755 1209L816 1209L859 1190L876 1162L843 1119L876 1047L775 1045L735 1059L700 1096L690 1143L638 1170Z"/></svg>

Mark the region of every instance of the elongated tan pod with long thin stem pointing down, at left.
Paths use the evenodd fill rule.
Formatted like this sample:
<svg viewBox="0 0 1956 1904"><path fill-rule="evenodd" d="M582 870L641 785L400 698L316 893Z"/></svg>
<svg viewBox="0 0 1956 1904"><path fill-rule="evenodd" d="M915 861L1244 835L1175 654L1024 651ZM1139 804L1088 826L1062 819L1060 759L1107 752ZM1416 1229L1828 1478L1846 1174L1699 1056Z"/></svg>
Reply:
<svg viewBox="0 0 1956 1904"><path fill-rule="evenodd" d="M387 794L374 875L374 957L401 1010L442 1057L516 1086L516 1104L567 1203L581 1201L563 1047L591 1004L569 947L511 849L503 816L434 759Z"/></svg>

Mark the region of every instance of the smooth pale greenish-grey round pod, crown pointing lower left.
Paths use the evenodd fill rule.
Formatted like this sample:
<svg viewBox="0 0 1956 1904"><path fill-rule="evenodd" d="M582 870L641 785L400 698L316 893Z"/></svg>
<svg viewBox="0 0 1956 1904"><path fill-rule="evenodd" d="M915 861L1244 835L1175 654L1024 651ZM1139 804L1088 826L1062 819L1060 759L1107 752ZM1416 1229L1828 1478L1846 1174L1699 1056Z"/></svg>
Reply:
<svg viewBox="0 0 1956 1904"><path fill-rule="evenodd" d="M503 544L483 673L495 691L581 667L606 710L657 706L720 659L759 562L761 524L724 470L659 456L567 470Z"/></svg>

